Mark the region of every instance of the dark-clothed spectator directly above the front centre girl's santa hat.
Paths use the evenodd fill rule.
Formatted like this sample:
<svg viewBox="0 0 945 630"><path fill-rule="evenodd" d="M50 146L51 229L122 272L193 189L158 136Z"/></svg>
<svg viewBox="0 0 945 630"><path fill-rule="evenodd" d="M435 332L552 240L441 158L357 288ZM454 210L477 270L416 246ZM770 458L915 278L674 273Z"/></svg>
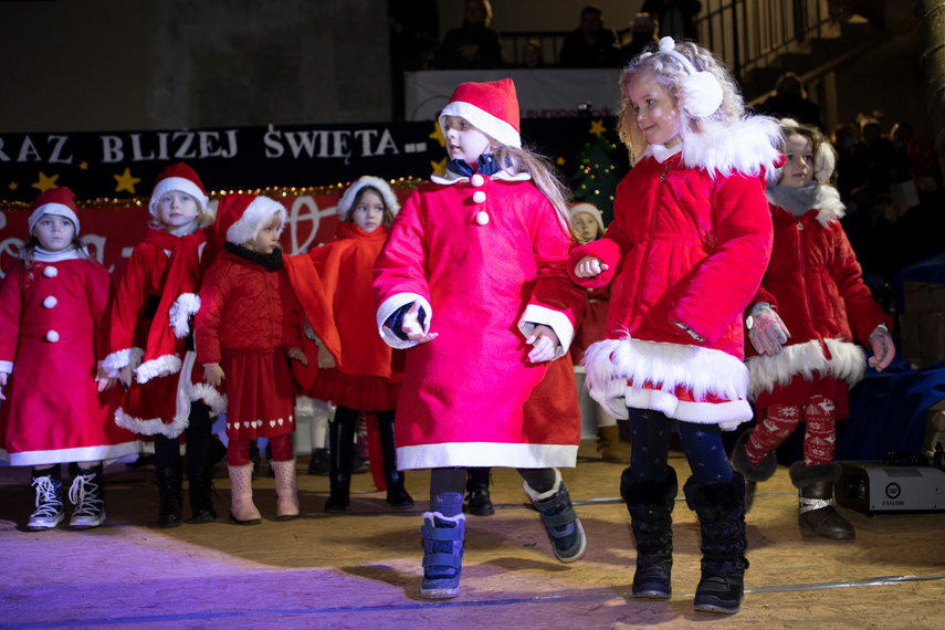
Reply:
<svg viewBox="0 0 945 630"><path fill-rule="evenodd" d="M433 66L440 70L484 70L505 65L502 36L489 28L489 0L466 0L463 25L443 38Z"/></svg>

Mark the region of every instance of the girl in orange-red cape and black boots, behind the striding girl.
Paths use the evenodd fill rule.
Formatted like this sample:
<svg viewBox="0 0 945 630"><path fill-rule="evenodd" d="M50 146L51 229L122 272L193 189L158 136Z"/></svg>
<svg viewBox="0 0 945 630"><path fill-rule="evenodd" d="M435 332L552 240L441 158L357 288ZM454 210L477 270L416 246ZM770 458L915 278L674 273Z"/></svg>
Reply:
<svg viewBox="0 0 945 630"><path fill-rule="evenodd" d="M374 263L399 210L400 202L385 180L364 176L338 199L340 222L335 240L305 256L290 259L290 276L298 288L296 295L303 308L327 306L332 312L326 321L328 329L313 326L318 374L311 390L313 398L337 406L329 423L330 494L325 512L348 510L353 440L359 412L377 413L387 503L398 508L413 507L413 498L403 487L403 473L397 470L393 439L393 410L403 375L393 367L391 348L374 334L374 313L364 308L365 302L371 301ZM309 293L301 285L308 284L313 274L321 279L324 297L309 305L303 297ZM337 358L322 342L328 336L340 343Z"/></svg>

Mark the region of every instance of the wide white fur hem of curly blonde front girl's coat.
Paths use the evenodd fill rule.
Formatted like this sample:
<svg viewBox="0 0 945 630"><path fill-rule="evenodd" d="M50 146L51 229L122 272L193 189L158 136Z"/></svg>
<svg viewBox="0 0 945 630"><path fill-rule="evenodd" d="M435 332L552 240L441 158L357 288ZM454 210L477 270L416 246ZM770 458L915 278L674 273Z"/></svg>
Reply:
<svg viewBox="0 0 945 630"><path fill-rule="evenodd" d="M629 335L622 339L603 339L591 344L584 356L587 370L587 387L591 398L600 402L616 418L627 418L627 407L671 411L670 418L676 418L676 408L682 408L675 397L679 386L687 388L696 400L710 395L729 400L743 400L748 393L748 369L745 364L722 350L701 348L685 344L665 344L633 339ZM632 379L637 387L628 388L627 380ZM644 396L642 384L652 384L658 389L645 393L648 400L662 400L659 408L652 405L640 407L639 401L629 398ZM654 395L653 391L660 393ZM657 398L653 398L657 397ZM632 405L631 405L632 402ZM700 408L716 409L720 403L700 405ZM724 403L721 403L724 405ZM746 403L747 405L747 403ZM721 407L716 411L721 410ZM693 416L693 414L691 414ZM748 416L750 418L750 414ZM680 418L683 419L683 418ZM737 417L721 416L714 420L691 419L686 421L735 422Z"/></svg>

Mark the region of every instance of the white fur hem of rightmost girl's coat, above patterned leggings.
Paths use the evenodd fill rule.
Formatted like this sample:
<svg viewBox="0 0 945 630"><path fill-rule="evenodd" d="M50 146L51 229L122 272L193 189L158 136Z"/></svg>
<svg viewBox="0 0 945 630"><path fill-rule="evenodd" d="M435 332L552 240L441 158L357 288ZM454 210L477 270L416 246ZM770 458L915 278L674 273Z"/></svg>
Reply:
<svg viewBox="0 0 945 630"><path fill-rule="evenodd" d="M863 348L840 339L825 342L832 357L830 360L825 357L823 349L816 339L787 346L777 355L750 357L746 364L752 379L748 390L752 400L762 391L771 391L776 385L790 384L798 375L810 380L815 372L819 372L837 380L846 380L849 387L860 382L867 370Z"/></svg>

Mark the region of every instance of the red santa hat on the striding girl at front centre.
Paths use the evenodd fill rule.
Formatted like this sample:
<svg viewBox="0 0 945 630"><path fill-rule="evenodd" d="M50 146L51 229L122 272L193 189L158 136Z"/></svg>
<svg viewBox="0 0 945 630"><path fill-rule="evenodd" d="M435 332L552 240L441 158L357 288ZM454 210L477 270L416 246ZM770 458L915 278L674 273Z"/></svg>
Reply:
<svg viewBox="0 0 945 630"><path fill-rule="evenodd" d="M522 148L518 97L511 78L490 83L461 83L450 97L450 103L440 112L441 129L444 116L465 118L480 132L503 145Z"/></svg>

